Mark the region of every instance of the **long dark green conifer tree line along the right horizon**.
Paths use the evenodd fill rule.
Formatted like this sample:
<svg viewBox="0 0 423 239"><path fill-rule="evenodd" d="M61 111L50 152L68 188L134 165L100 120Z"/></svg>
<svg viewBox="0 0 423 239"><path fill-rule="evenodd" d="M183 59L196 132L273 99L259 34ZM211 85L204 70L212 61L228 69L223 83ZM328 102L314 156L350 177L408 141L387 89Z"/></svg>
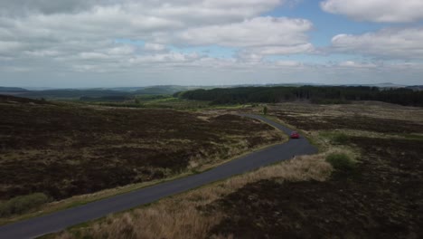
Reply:
<svg viewBox="0 0 423 239"><path fill-rule="evenodd" d="M367 86L237 87L182 91L174 94L186 100L208 100L211 104L277 103L306 100L313 103L348 103L378 100L400 105L423 106L423 91L381 89Z"/></svg>

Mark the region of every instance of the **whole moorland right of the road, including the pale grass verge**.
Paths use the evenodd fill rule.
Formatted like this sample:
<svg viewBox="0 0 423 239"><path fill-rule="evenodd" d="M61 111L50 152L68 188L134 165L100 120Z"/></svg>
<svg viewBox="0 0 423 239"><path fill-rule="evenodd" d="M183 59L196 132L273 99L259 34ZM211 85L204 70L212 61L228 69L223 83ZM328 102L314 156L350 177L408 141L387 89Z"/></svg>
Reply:
<svg viewBox="0 0 423 239"><path fill-rule="evenodd" d="M268 105L268 116L299 129L322 153L109 215L52 237L423 235L423 110L379 102L284 103ZM330 169L324 158L334 153L353 158L353 167Z"/></svg>

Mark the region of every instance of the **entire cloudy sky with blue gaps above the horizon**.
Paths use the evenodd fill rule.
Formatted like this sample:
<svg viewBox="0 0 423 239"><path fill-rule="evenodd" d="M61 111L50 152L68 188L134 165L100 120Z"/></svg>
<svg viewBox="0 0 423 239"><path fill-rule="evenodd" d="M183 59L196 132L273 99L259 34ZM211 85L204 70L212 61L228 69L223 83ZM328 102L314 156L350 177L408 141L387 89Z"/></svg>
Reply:
<svg viewBox="0 0 423 239"><path fill-rule="evenodd" d="M423 0L0 0L0 85L423 84Z"/></svg>

